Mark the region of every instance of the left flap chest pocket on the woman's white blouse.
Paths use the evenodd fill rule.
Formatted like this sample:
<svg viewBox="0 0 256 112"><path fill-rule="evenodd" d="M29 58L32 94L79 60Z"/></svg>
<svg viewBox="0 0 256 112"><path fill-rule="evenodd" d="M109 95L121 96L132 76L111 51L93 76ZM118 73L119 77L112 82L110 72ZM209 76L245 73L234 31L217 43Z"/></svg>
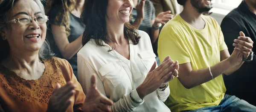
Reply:
<svg viewBox="0 0 256 112"><path fill-rule="evenodd" d="M119 74L122 72L118 68L119 66L116 62L108 63L99 69L99 73L110 80L113 86L116 87L123 82L121 75Z"/></svg>

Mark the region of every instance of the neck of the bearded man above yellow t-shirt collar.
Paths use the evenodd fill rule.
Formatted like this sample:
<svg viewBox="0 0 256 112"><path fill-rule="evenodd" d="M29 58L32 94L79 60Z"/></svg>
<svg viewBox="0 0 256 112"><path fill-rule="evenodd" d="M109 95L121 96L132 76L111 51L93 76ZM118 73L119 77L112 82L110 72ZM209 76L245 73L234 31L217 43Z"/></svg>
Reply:
<svg viewBox="0 0 256 112"><path fill-rule="evenodd" d="M180 16L185 20L187 23L197 23L202 20L201 13L199 13L187 0L186 5L184 6L183 11L180 13Z"/></svg>

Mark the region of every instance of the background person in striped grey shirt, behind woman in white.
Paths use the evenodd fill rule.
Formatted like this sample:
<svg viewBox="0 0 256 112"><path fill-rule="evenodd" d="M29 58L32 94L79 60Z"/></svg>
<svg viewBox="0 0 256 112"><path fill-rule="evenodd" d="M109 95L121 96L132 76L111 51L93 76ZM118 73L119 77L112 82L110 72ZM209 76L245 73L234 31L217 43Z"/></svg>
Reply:
<svg viewBox="0 0 256 112"><path fill-rule="evenodd" d="M136 29L142 30L149 35L153 51L157 55L159 29L172 19L173 15L169 14L171 11L165 11L157 14L156 17L153 3L149 0L133 0L133 6L131 24ZM157 64L160 65L158 57L156 59Z"/></svg>

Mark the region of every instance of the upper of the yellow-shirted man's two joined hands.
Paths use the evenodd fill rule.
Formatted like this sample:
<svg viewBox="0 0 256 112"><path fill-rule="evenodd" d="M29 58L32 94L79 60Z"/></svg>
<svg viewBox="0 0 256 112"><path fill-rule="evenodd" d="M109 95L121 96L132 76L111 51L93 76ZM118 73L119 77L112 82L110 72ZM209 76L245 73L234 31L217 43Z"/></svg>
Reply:
<svg viewBox="0 0 256 112"><path fill-rule="evenodd" d="M240 50L240 53L244 55L244 59L247 59L253 49L253 40L250 37L245 37L245 34L240 32L240 37L235 39L234 42L233 46Z"/></svg>

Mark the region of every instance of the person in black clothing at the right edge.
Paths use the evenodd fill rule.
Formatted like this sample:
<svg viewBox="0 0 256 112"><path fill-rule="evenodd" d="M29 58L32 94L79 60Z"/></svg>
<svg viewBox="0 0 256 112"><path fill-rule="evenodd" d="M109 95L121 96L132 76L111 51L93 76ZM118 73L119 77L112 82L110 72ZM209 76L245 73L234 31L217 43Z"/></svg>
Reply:
<svg viewBox="0 0 256 112"><path fill-rule="evenodd" d="M244 32L245 36L256 42L256 0L243 0L236 9L224 17L221 22L221 30L230 54L233 51L233 40L239 36L239 31ZM256 48L253 48L252 51L256 52ZM251 54L250 56L253 57L253 60L244 62L241 68L232 75L225 75L224 83L227 94L236 95L236 97L256 106L256 55Z"/></svg>

